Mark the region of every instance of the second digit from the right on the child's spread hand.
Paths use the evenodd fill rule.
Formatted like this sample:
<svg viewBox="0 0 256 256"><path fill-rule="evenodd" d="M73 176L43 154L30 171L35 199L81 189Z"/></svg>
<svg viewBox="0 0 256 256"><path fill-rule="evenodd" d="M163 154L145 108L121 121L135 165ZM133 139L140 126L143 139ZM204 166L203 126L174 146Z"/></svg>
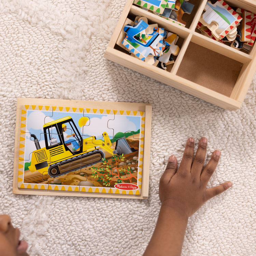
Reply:
<svg viewBox="0 0 256 256"><path fill-rule="evenodd" d="M213 152L210 161L208 162L207 166L205 166L200 176L200 181L202 186L206 187L208 181L210 180L212 174L214 173L217 167L220 156L221 156L221 152L219 150L215 150Z"/></svg>

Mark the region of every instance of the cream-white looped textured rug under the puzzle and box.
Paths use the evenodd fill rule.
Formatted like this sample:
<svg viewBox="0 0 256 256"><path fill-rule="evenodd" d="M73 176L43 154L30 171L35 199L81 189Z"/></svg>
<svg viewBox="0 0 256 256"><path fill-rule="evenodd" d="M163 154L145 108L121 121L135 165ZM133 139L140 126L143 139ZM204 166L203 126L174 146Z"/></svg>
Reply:
<svg viewBox="0 0 256 256"><path fill-rule="evenodd" d="M30 255L141 255L169 155L180 160L188 137L205 136L208 160L222 151L209 186L233 186L189 219L183 255L255 255L256 76L241 109L229 112L103 59L124 5L0 0L0 213L22 230ZM151 103L148 200L13 195L17 97Z"/></svg>

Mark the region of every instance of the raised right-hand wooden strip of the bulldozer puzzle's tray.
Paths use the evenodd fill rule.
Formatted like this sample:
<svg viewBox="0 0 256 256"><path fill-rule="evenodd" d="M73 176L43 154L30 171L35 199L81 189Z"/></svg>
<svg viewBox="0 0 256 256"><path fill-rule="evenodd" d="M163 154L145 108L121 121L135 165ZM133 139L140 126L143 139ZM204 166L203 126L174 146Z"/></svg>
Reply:
<svg viewBox="0 0 256 256"><path fill-rule="evenodd" d="M149 190L151 116L152 116L152 106L146 105L145 106L145 131L144 131L142 188L141 188L141 194L145 198L148 197L148 190Z"/></svg>

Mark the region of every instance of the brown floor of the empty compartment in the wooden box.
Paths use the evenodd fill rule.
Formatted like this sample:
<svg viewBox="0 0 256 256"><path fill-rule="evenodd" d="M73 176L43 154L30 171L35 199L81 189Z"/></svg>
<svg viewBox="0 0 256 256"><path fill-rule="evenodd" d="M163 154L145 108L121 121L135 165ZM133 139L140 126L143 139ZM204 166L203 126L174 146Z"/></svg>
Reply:
<svg viewBox="0 0 256 256"><path fill-rule="evenodd" d="M243 63L190 42L176 75L230 97Z"/></svg>

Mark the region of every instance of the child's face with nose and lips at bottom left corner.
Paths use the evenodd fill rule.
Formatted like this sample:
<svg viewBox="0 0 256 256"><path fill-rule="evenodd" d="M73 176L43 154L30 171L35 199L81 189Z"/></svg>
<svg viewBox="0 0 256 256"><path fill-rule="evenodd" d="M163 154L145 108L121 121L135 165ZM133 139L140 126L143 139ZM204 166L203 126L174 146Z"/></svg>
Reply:
<svg viewBox="0 0 256 256"><path fill-rule="evenodd" d="M28 244L19 240L19 229L14 228L8 215L0 215L0 254L2 256L28 256Z"/></svg>

